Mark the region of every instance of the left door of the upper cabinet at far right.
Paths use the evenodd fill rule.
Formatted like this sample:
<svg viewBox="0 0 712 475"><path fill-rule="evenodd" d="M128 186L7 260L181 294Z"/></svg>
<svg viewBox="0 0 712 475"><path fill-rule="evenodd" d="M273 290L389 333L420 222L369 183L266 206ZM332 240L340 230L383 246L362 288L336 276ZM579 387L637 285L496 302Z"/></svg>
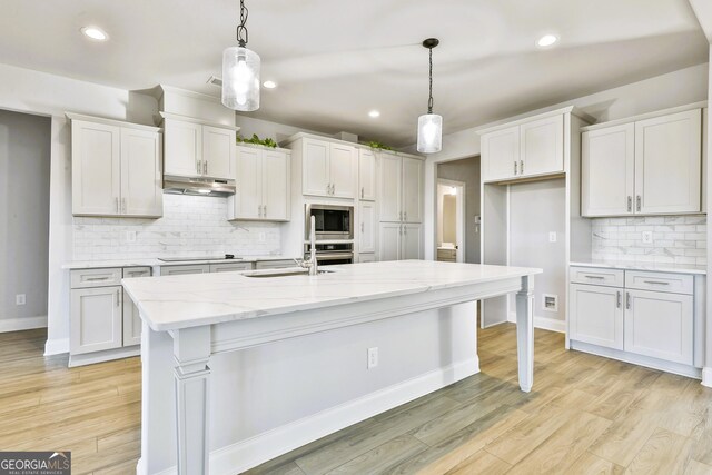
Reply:
<svg viewBox="0 0 712 475"><path fill-rule="evenodd" d="M633 212L635 194L635 125L584 132L582 137L583 216Z"/></svg>

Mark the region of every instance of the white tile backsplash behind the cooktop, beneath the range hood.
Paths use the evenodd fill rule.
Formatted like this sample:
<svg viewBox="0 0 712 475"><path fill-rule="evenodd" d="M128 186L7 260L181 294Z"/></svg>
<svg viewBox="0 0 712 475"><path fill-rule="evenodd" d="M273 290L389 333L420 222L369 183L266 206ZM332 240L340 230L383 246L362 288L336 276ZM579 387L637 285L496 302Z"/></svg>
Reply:
<svg viewBox="0 0 712 475"><path fill-rule="evenodd" d="M75 217L72 236L75 260L280 253L279 224L230 222L227 198L202 196L164 195L159 219Z"/></svg>

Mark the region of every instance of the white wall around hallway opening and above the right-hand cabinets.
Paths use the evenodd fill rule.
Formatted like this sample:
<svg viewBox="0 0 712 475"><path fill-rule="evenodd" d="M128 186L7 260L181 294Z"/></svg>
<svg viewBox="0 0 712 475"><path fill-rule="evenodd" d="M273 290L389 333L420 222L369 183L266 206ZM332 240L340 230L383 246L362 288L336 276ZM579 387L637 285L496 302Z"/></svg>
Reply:
<svg viewBox="0 0 712 475"><path fill-rule="evenodd" d="M524 111L524 113L516 117L503 117L502 120L497 122L482 125L444 136L443 151L428 156L425 161L425 215L423 221L425 258L434 259L436 239L434 222L436 206L435 164L478 155L479 137L477 136L477 130L570 105L578 107L584 112L596 118L597 121L607 121L706 100L709 69L709 63L693 66L643 81L552 105L551 107L536 111ZM446 122L447 117L445 117L444 120ZM407 149L412 148L413 147L409 147Z"/></svg>

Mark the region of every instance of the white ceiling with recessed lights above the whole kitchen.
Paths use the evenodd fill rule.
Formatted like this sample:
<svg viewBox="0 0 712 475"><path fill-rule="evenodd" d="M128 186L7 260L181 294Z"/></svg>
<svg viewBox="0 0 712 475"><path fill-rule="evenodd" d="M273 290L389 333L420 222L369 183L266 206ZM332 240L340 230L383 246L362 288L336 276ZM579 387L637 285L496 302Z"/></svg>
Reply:
<svg viewBox="0 0 712 475"><path fill-rule="evenodd" d="M263 59L251 116L324 132L415 141L434 50L445 132L708 60L688 0L246 0ZM238 0L2 0L0 62L125 89L158 83L219 95ZM90 42L97 24L110 36ZM544 32L561 37L540 50ZM367 116L378 109L380 118Z"/></svg>

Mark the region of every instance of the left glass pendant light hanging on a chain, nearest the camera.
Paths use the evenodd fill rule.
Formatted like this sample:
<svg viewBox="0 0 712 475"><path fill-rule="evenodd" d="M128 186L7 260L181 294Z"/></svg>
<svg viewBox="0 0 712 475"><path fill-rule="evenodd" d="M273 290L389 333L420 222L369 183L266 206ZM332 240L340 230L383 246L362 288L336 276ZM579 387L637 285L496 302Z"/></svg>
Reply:
<svg viewBox="0 0 712 475"><path fill-rule="evenodd" d="M236 47L222 51L222 105L249 112L259 109L259 55L247 49L248 10L240 0L240 24Z"/></svg>

